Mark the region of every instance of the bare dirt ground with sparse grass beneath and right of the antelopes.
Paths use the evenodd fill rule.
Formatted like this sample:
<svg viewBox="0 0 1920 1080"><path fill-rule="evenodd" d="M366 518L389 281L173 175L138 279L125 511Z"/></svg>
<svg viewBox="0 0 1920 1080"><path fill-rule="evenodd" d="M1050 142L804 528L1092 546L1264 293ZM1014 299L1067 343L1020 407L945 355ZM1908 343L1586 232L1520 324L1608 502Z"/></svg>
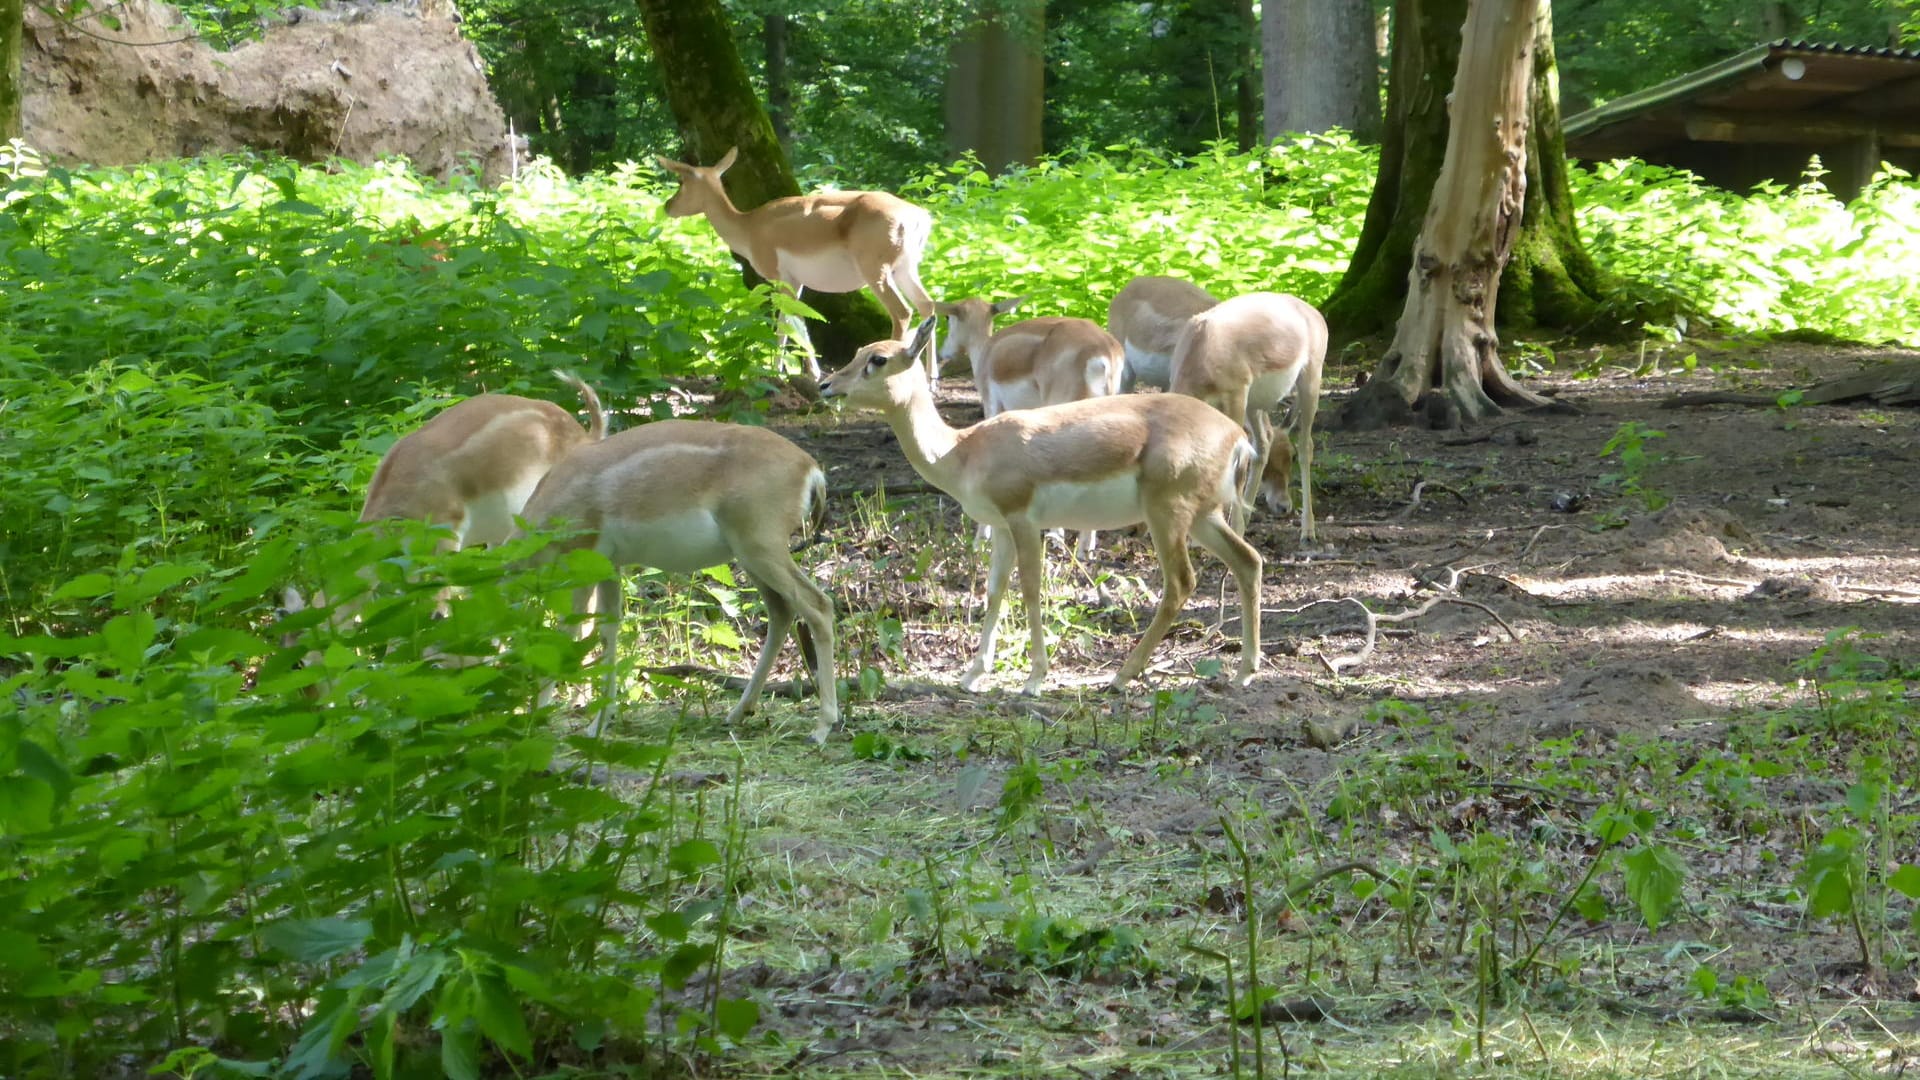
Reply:
<svg viewBox="0 0 1920 1080"><path fill-rule="evenodd" d="M1688 352L1699 356L1697 373L1678 371ZM879 734L924 753L847 761L829 748L803 759L793 742L810 703L783 705L795 709L791 730L776 719L743 757L728 757L743 753L739 732L714 749L714 769L751 778L743 813L787 890L743 913L743 945L732 953L745 963L735 990L772 1003L768 1024L791 1040L787 1049L801 1047L770 1065L1215 1074L1231 1053L1225 990L1217 969L1181 942L1244 945L1233 944L1246 894L1219 857L1223 815L1244 815L1261 838L1258 903L1284 957L1263 978L1290 1007L1325 1011L1281 1024L1292 1065L1365 1076L1486 1067L1505 1076L1837 1076L1891 1074L1920 1059L1920 970L1864 970L1851 961L1851 932L1809 919L1793 892L1803 851L1845 796L1855 751L1836 749L1832 771L1757 773L1753 799L1741 803L1749 809L1738 813L1715 798L1680 805L1692 796L1674 794L1705 784L1693 763L1716 759L1736 736L1764 746L1768 717L1805 707L1801 665L1836 630L1864 630L1860 648L1912 678L1920 413L1659 407L1667 394L1786 390L1910 356L1690 346L1655 357L1659 371L1632 373L1622 363L1638 365L1638 356L1609 363L1563 352L1561 373L1596 375L1530 384L1576 405L1576 417L1511 417L1469 432L1323 430L1319 542L1302 552L1296 523L1265 513L1250 527L1267 557L1265 661L1244 690L1194 675L1210 657L1231 669L1236 640L1231 623L1219 626L1221 567L1198 550L1200 590L1146 688L1102 688L1158 590L1144 540L1112 536L1096 563L1117 607L1094 603L1087 577L1054 577L1046 694L1014 694L1025 671L1018 601L1002 626L995 690L960 694L977 621L970 592L979 588L979 559L960 542L970 525L925 488L874 417L783 415L774 427L829 475L837 538L806 559L851 626L845 663L883 667L889 684L879 700L849 707L837 738ZM1352 392L1354 375L1331 373L1321 417ZM977 419L960 382L943 392L956 425ZM1603 455L1622 425L1663 432L1644 436L1645 465L1626 479L1619 455ZM864 502L876 484L889 494L887 515ZM922 548L939 553L916 563ZM1369 655L1329 667L1365 646L1359 609L1346 601L1392 615L1434 596L1484 607L1442 601L1380 623ZM891 651L860 630L876 617L902 623ZM1778 723L1782 740L1795 734ZM1407 771L1436 748L1453 757ZM1910 822L1912 740L1895 755L1893 813ZM1023 759L1052 771L1039 824L1029 822L1037 847L1008 847L996 805L1004 811L1002 792ZM1423 774L1432 788L1405 788L1405 776ZM1592 782L1586 796L1582 778ZM1336 813L1356 792L1369 809ZM1532 878L1513 869L1490 886L1528 913L1511 924L1517 940L1501 944L1511 963L1596 857L1580 838L1609 799L1653 811L1676 836L1690 867L1680 913L1645 930L1609 872L1613 917L1559 926L1546 949L1557 976L1530 980L1523 1009L1496 1003L1492 1043L1482 1032L1476 1049L1463 1043L1476 1009L1473 957L1457 945L1473 911L1505 926L1475 907L1484 899L1438 890L1432 934L1415 942L1377 897L1334 890L1309 903L1300 897L1311 890L1294 892L1304 878L1332 880L1329 869L1348 880L1338 876L1348 861L1415 865L1434 859L1436 836L1494 832L1511 844L1513 867L1549 867L1549 884L1523 884ZM1288 847L1302 828L1325 844ZM1897 834L1905 844L1912 828ZM1884 855L1901 863L1916 853ZM883 919L899 915L902 890L935 878L935 865L958 897L987 892L1018 907L1008 897L1044 896L1039 907L1077 913L1079 926L1137 926L1160 959L1144 972L1062 976L1014 963L1004 942L989 940L958 961L924 924L910 932L904 917ZM1448 865L1457 863L1442 859L1432 872L1453 872ZM1901 903L1893 911L1905 926ZM893 932L858 932L876 920ZM1450 945L1452 926L1461 938ZM1903 940L1912 945L1910 932ZM1692 980L1709 959L1722 980L1751 980L1764 994L1730 1005L1726 994L1699 992ZM1279 1001L1267 1011L1286 1019Z"/></svg>

